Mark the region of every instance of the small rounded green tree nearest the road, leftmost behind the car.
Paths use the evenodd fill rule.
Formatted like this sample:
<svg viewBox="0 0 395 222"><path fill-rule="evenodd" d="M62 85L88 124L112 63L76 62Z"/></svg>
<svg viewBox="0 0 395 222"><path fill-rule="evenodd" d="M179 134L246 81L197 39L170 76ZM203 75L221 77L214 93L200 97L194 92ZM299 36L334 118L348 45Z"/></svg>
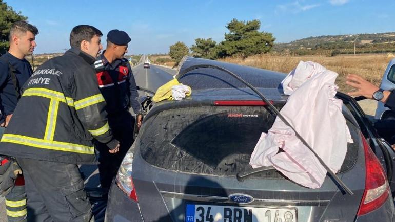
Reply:
<svg viewBox="0 0 395 222"><path fill-rule="evenodd" d="M216 59L218 56L218 50L215 47L216 42L211 38L196 38L195 45L190 48L193 52L194 57Z"/></svg>

